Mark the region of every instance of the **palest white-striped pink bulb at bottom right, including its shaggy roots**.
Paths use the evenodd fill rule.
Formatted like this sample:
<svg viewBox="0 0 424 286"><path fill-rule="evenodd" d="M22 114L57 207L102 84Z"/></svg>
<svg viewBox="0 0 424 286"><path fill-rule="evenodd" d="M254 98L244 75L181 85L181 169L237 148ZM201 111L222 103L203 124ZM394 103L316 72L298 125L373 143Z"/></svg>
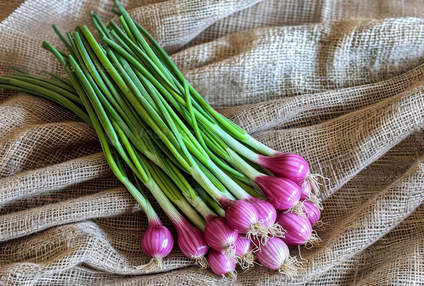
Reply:
<svg viewBox="0 0 424 286"><path fill-rule="evenodd" d="M268 239L267 244L256 252L256 257L266 268L278 270L289 277L296 275L301 268L296 257L290 257L287 245L278 237Z"/></svg>

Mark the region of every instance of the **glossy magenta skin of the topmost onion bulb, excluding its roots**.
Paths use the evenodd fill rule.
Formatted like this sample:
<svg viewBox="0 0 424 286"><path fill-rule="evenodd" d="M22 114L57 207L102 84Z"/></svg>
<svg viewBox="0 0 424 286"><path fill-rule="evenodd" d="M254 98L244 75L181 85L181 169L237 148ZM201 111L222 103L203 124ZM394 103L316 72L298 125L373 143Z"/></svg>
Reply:
<svg viewBox="0 0 424 286"><path fill-rule="evenodd" d="M274 176L289 179L296 184L301 184L309 173L307 161L294 153L272 157L258 155L257 163L267 168Z"/></svg>

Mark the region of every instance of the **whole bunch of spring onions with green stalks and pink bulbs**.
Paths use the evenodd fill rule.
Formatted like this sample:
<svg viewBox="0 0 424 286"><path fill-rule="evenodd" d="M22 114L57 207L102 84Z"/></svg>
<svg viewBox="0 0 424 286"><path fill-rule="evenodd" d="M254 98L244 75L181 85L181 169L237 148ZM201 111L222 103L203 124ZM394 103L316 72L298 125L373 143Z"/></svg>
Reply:
<svg viewBox="0 0 424 286"><path fill-rule="evenodd" d="M160 269L173 248L145 185L187 258L203 267L209 260L215 274L230 278L236 264L246 270L255 259L294 275L300 265L287 245L319 242L312 230L321 215L316 175L301 156L263 145L216 112L116 6L119 22L105 25L91 14L100 43L86 26L64 36L53 25L67 52L48 42L43 47L67 78L15 69L18 74L0 78L0 88L54 101L95 129L112 171L148 217L141 244L152 259L137 269Z"/></svg>

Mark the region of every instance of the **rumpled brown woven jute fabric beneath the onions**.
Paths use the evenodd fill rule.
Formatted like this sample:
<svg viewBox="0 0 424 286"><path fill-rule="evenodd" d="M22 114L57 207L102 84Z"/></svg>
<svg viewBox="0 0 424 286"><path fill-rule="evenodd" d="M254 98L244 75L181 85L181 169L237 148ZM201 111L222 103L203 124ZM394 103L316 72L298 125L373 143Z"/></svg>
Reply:
<svg viewBox="0 0 424 286"><path fill-rule="evenodd" d="M256 265L230 281L176 248L145 275L133 269L149 259L145 215L95 132L56 104L2 91L0 284L424 285L423 2L153 2L123 4L188 81L258 140L328 178L322 245L301 247L295 278ZM92 28L89 11L111 20L112 6L26 0L0 23L0 74L9 65L61 73L41 46L61 47L50 25Z"/></svg>

